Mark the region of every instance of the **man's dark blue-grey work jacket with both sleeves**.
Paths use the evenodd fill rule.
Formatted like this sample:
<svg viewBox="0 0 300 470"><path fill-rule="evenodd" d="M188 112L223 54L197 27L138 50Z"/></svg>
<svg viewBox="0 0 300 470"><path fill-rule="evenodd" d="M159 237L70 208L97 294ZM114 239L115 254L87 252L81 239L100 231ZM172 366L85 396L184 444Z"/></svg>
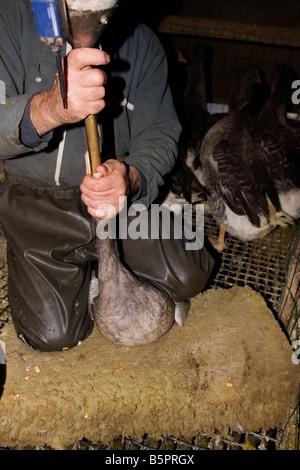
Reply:
<svg viewBox="0 0 300 470"><path fill-rule="evenodd" d="M108 97L106 105L114 110L115 155L110 157L135 165L144 175L147 197L139 202L149 205L175 163L181 132L167 84L166 57L158 38L144 25L136 27L118 50L107 52L113 54L107 83L112 99ZM30 0L1 0L0 80L5 84L6 103L0 105L0 157L6 159L7 172L77 186L85 174L87 150L82 122L55 129L34 148L20 140L20 122L28 100L49 89L55 74L54 54L40 41ZM117 90L121 94L116 94L114 84L122 84ZM100 123L103 116L105 112L98 116ZM58 161L64 130L64 150Z"/></svg>

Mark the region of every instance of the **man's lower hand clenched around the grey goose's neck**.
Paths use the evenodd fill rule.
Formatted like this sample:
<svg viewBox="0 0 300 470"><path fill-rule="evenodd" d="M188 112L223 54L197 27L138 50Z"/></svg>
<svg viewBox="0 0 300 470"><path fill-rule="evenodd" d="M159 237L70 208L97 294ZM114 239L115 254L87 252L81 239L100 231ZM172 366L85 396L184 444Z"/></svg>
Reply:
<svg viewBox="0 0 300 470"><path fill-rule="evenodd" d="M110 218L123 208L125 196L138 190L139 174L135 167L112 159L98 166L96 171L101 177L84 177L81 199L93 217Z"/></svg>

